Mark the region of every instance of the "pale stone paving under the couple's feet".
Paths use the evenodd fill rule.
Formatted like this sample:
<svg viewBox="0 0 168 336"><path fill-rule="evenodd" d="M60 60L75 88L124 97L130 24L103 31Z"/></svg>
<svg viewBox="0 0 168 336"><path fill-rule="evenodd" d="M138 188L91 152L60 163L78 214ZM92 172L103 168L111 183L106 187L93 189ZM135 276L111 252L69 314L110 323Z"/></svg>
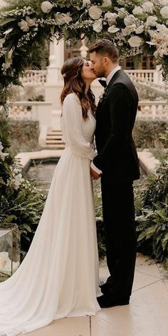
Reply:
<svg viewBox="0 0 168 336"><path fill-rule="evenodd" d="M100 278L107 276L103 262ZM103 309L94 317L55 320L26 335L168 336L168 274L153 260L138 254L130 305Z"/></svg>

